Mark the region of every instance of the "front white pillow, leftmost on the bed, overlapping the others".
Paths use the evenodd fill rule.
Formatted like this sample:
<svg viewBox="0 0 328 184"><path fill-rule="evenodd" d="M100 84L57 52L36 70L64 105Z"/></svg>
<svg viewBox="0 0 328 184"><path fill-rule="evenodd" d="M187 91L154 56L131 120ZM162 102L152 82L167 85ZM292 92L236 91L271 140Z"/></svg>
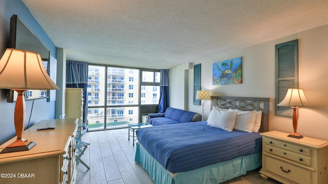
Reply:
<svg viewBox="0 0 328 184"><path fill-rule="evenodd" d="M237 112L216 110L214 107L210 112L207 125L231 132L235 126Z"/></svg>

